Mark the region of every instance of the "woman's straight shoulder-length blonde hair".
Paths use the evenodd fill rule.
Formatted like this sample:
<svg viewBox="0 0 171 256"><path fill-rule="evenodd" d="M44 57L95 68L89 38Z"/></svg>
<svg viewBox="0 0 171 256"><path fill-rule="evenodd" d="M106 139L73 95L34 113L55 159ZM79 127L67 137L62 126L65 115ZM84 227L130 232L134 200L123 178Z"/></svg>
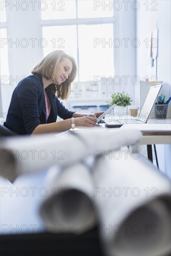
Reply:
<svg viewBox="0 0 171 256"><path fill-rule="evenodd" d="M51 79L53 81L56 71L58 69L60 61L68 59L72 62L72 72L68 76L68 79L61 83L60 85L52 84L49 86L52 94L57 93L58 98L66 100L71 93L71 83L74 81L77 75L77 65L73 57L66 54L64 51L56 50L47 54L42 61L40 61L33 69L32 74L39 73L46 77L46 79Z"/></svg>

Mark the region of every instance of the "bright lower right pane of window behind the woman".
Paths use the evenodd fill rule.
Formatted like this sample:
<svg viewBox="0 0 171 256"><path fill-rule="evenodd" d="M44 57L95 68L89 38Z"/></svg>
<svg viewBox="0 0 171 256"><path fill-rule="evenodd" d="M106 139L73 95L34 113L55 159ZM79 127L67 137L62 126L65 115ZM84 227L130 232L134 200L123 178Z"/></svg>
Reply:
<svg viewBox="0 0 171 256"><path fill-rule="evenodd" d="M79 25L79 79L94 80L94 75L113 75L113 49L103 39L113 34L112 24Z"/></svg>

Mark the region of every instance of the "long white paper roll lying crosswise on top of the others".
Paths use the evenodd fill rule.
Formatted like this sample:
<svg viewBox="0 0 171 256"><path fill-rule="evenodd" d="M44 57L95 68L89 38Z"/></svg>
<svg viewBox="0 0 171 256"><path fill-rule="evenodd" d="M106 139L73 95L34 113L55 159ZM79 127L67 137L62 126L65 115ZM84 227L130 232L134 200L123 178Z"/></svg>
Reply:
<svg viewBox="0 0 171 256"><path fill-rule="evenodd" d="M131 136L131 134L134 136ZM135 144L141 139L141 132L132 129L121 131L92 128L66 135L43 134L17 136L1 141L0 175L9 180L20 174L46 170L54 164L67 166L79 161L94 150L116 149Z"/></svg>

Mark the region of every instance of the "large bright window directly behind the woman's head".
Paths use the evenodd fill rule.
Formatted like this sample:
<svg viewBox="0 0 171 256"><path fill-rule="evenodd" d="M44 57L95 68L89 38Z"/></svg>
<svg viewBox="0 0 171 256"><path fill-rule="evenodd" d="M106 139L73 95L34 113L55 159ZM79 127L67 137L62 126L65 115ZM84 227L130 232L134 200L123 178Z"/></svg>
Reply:
<svg viewBox="0 0 171 256"><path fill-rule="evenodd" d="M56 49L72 55L78 64L75 81L93 81L95 75L113 76L113 9L104 8L105 1L41 2L44 56Z"/></svg>

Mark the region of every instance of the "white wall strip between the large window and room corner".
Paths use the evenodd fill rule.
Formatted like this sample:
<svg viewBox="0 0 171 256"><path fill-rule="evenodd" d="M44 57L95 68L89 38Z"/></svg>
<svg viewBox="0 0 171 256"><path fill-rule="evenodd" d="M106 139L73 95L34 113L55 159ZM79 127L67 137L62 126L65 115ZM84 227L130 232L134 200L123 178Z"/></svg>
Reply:
<svg viewBox="0 0 171 256"><path fill-rule="evenodd" d="M132 96L132 104L134 104L136 80L132 83L132 78L136 75L136 47L132 47L132 40L136 38L136 12L132 10L131 3L128 4L127 9L122 1L121 3L121 9L115 10L114 13L116 18L114 38L122 42L121 47L114 47L114 68L115 76L121 78L121 84L115 85L114 91L127 92ZM116 6L116 8L118 7ZM118 83L117 79L116 83Z"/></svg>

